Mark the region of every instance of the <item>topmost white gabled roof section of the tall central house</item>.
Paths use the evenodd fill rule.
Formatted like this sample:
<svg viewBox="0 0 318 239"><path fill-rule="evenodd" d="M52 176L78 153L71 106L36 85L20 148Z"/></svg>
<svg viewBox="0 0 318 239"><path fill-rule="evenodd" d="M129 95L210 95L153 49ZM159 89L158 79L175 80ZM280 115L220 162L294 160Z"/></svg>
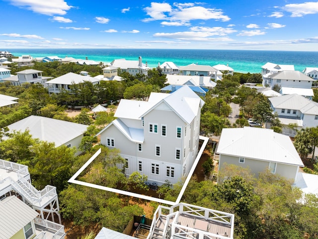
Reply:
<svg viewBox="0 0 318 239"><path fill-rule="evenodd" d="M147 115L161 103L165 103L187 123L192 122L192 120L197 116L199 108L202 108L204 105L204 101L197 94L195 94L188 86L183 86L173 94L168 94L167 97L159 101L141 117Z"/></svg>

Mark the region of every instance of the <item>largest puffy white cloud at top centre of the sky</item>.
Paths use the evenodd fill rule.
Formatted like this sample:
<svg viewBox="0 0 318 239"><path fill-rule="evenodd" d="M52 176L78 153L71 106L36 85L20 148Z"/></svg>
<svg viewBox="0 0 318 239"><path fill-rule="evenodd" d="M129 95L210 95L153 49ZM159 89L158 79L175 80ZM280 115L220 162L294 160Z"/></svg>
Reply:
<svg viewBox="0 0 318 239"><path fill-rule="evenodd" d="M196 3L199 4L199 3ZM143 19L144 22L155 20L169 20L172 22L191 20L221 20L229 21L231 18L223 14L221 9L205 8L195 6L194 3L174 3L174 8L169 3L152 2L150 7L145 7L150 18Z"/></svg>

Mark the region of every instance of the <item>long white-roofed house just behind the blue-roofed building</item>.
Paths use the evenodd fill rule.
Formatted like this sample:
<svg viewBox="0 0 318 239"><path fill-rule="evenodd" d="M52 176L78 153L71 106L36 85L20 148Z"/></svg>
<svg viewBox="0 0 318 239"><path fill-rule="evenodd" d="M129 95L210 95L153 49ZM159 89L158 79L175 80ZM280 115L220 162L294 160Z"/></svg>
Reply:
<svg viewBox="0 0 318 239"><path fill-rule="evenodd" d="M184 75L166 75L165 84L169 85L188 85L188 86L199 86L207 89L214 88L217 83L211 80L210 76L184 76Z"/></svg>

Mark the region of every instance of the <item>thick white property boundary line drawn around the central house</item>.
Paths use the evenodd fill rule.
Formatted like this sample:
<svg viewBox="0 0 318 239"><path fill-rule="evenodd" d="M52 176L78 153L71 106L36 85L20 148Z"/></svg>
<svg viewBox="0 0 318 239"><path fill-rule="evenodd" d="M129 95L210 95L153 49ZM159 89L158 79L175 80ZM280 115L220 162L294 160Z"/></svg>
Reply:
<svg viewBox="0 0 318 239"><path fill-rule="evenodd" d="M190 169L190 172L189 172L187 178L185 179L185 181L183 183L183 186L181 188L181 191L180 191L180 193L179 193L179 195L177 197L177 200L175 202L76 180L76 178L79 176L79 174L82 171L84 171L84 169L87 168L87 166L101 153L101 149L98 149L94 153L94 155L91 156L90 159L88 159L88 161L83 166L81 166L81 168L72 176L72 178L68 182L69 183L79 184L79 185L86 186L86 187L101 189L101 190L109 191L109 192L113 192L113 193L119 193L119 194L123 194L123 195L130 196L130 197L136 197L136 198L141 198L141 199L145 199L145 200L149 200L149 201L155 201L157 203L162 203L162 204L167 204L167 205L172 205L173 206L173 205L178 204L180 202L181 197L182 197L182 195L183 195L183 193L184 193L184 191L185 191L186 187L188 186L188 183L189 183L189 181L191 179L191 176L192 176L192 174L193 174L193 172L194 172L194 170L195 170L195 168L196 168L196 166L197 166L197 164L198 164L198 162L199 162L199 160L201 158L203 150L205 149L205 146L207 145L207 143L209 141L209 138L208 137L204 137L204 136L199 136L199 139L204 140L203 144L202 144L202 146L201 146L201 148L199 150L199 153L198 153L197 157L194 160L194 163L193 163L193 165L192 165L192 167Z"/></svg>

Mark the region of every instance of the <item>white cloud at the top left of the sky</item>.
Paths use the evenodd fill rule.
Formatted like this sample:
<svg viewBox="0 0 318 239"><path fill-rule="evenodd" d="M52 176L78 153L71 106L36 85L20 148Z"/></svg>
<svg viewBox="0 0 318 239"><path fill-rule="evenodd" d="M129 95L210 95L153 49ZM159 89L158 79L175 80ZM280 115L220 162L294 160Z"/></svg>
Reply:
<svg viewBox="0 0 318 239"><path fill-rule="evenodd" d="M12 5L44 15L65 15L69 6L65 0L8 0Z"/></svg>

